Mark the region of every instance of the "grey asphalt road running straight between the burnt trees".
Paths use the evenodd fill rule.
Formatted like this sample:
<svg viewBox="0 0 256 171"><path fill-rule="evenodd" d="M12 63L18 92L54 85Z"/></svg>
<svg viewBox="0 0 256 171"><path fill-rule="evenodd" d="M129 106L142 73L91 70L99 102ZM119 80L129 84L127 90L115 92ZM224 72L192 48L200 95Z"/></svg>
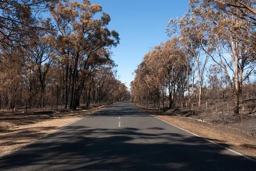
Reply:
<svg viewBox="0 0 256 171"><path fill-rule="evenodd" d="M121 102L14 154L1 171L256 171L256 163Z"/></svg>

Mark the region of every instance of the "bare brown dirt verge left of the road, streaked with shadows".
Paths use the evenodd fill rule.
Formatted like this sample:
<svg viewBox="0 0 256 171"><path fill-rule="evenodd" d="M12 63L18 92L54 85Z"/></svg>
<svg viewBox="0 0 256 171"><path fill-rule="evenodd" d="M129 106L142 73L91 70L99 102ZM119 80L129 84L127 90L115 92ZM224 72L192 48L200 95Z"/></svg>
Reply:
<svg viewBox="0 0 256 171"><path fill-rule="evenodd" d="M31 109L26 113L0 113L0 157L106 106L92 104L87 110L79 111Z"/></svg>

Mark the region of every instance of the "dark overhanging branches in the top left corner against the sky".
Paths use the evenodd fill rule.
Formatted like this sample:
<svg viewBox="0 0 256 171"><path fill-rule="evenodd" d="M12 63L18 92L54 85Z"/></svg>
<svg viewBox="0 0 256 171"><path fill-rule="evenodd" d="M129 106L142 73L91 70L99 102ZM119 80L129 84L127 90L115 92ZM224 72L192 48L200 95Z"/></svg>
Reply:
<svg viewBox="0 0 256 171"><path fill-rule="evenodd" d="M37 29L47 29L41 25L43 12L57 0L2 0L0 1L0 45L25 45L23 39L30 37Z"/></svg>

